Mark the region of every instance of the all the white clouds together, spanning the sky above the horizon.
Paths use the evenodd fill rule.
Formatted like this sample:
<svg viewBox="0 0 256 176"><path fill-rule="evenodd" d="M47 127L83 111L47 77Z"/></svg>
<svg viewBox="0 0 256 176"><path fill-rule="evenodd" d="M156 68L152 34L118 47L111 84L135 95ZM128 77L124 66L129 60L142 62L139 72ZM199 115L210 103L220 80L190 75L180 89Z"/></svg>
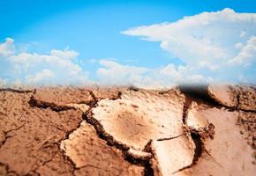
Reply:
<svg viewBox="0 0 256 176"><path fill-rule="evenodd" d="M176 22L137 26L122 32L160 42L160 48L185 64L149 69L109 59L95 60L95 72L83 70L79 53L52 49L47 54L17 52L14 40L0 44L0 85L21 84L135 84L162 88L183 83L256 80L256 14L231 9L203 12ZM147 52L147 51L141 51ZM161 58L159 58L161 59ZM96 75L92 80L89 74Z"/></svg>

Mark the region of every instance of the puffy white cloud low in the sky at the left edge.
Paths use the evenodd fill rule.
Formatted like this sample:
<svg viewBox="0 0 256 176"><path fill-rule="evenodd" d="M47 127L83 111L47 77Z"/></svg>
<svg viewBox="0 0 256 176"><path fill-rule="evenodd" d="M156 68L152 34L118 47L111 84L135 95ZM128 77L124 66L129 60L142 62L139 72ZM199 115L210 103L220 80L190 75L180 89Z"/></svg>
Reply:
<svg viewBox="0 0 256 176"><path fill-rule="evenodd" d="M79 53L70 49L52 49L49 54L21 52L15 54L14 40L8 38L0 48L0 62L4 62L5 72L21 84L87 84L88 73L75 63ZM4 67L3 67L4 69ZM9 74L9 75L8 75Z"/></svg>

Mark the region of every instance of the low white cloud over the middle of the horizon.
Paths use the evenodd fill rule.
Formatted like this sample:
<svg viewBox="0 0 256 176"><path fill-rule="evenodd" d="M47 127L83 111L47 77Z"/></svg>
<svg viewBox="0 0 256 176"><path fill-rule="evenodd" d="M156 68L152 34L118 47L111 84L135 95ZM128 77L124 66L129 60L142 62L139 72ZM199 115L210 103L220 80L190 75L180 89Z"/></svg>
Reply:
<svg viewBox="0 0 256 176"><path fill-rule="evenodd" d="M100 83L127 85L133 84L147 89L169 88L183 83L207 82L210 77L202 77L197 74L189 75L189 68L168 64L162 68L149 69L132 65L123 65L117 61L100 60L101 68L97 70Z"/></svg>

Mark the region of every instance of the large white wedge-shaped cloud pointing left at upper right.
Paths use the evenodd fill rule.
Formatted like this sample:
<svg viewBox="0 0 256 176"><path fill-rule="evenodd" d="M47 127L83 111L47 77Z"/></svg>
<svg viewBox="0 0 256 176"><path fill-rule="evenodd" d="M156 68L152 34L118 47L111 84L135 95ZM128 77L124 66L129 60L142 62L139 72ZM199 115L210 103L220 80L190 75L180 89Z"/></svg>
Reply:
<svg viewBox="0 0 256 176"><path fill-rule="evenodd" d="M255 13L237 13L227 8L184 17L173 23L133 27L122 33L160 41L163 50L186 63L192 71L190 74L212 76L215 80L242 74L245 79L246 75L251 80L256 78L252 77L256 74L253 69L256 66Z"/></svg>

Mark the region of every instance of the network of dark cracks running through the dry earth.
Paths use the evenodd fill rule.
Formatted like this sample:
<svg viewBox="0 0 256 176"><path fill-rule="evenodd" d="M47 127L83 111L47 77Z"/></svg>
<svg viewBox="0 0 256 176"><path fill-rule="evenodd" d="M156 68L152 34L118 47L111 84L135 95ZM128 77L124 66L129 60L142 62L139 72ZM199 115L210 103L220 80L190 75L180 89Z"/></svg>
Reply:
<svg viewBox="0 0 256 176"><path fill-rule="evenodd" d="M135 89L135 88L132 88L131 90L136 91L136 92L139 91L139 89ZM0 89L0 92L1 91L3 91L3 90ZM12 92L12 91L10 91L10 92ZM96 119L94 119L94 114L93 114L92 110L93 110L94 107L97 106L98 101L100 101L101 99L97 98L94 95L94 92L92 92L92 91L88 91L88 92L90 92L90 95L93 99L89 100L89 101L79 102L79 104L87 104L87 106L89 106L88 113L83 113L81 121L79 121L79 125L75 128L72 128L72 130L70 130L70 131L65 131L64 138L60 139L57 142L57 146L58 146L58 149L60 150L60 152L62 154L62 157L64 158L65 161L68 161L70 163L70 165L72 165L73 174L77 169L80 169L80 168L83 168L83 167L76 168L75 163L72 161L72 159L65 155L64 150L60 149L60 143L63 140L68 139L69 136L73 133L73 131L77 130L80 127L80 124L81 124L82 121L87 121L87 123L89 123L90 125L92 125L94 127L94 129L96 130L97 135L100 138L102 138L104 141L106 141L109 146L115 147L118 150L121 150L123 152L123 157L126 161L128 161L132 165L143 166L144 167L144 175L154 175L152 165L150 164L150 159L132 157L131 154L128 154L128 152L127 152L129 150L129 147L124 145L123 143L118 143L114 139L113 136L109 136L109 134L107 134L106 131L104 130L104 128L102 127L102 124L99 121L97 121ZM169 92L169 91L167 91L167 92ZM164 93L167 93L167 92L166 91L165 92L159 92L159 94L164 94ZM234 108L230 108L230 107L227 107L227 106L222 106L220 103L216 102L215 99L210 98L209 95L207 95L205 92L192 92L192 91L187 91L187 90L184 90L184 89L181 90L181 92L183 92L184 95L185 95L185 102L184 102L184 109L183 109L183 116L182 116L182 120L184 122L184 127L185 127L184 128L184 134L188 134L192 137L192 141L195 144L195 149L194 149L194 156L193 156L193 159L192 159L192 164L188 165L184 168L181 168L177 172L183 171L184 169L188 169L188 168L191 168L193 165L196 165L198 160L200 159L200 157L202 155L202 152L204 152L204 151L207 152L207 150L204 147L203 139L205 139L207 137L210 137L210 138L214 137L214 133L211 134L212 126L209 126L207 128L202 128L202 130L194 130L194 129L189 129L187 127L187 124L186 124L187 112L188 112L189 107L192 104L192 101L196 101L198 103L201 103L201 101L203 101L203 103L206 103L209 106L215 106L215 107L218 107L218 108L225 107L229 111L241 110L241 109L239 109L239 106L238 106L239 105L239 99L240 99L239 96L237 96L237 102L238 102L237 106L234 107ZM19 93L27 93L27 92L19 92ZM117 98L113 98L112 100L121 99L121 96L122 96L122 92L118 92ZM39 107L39 108L50 108L52 111L55 111L55 112L75 109L72 106L58 106L55 103L49 103L49 102L41 101L39 99L35 99L33 95L31 96L28 103L31 107L35 106L35 107ZM251 112L251 110L241 110L241 111ZM255 112L253 111L252 113L255 113ZM212 124L209 124L209 125L212 125ZM19 128L21 128L21 127L19 127ZM19 129L19 128L17 128L17 129ZM208 128L210 128L210 129L208 129ZM11 129L11 130L17 130L17 129ZM8 132L10 132L10 131L8 131ZM6 132L6 134L8 132ZM7 136L6 134L5 134L5 136ZM181 134L179 136L182 136L184 134ZM179 136L161 138L161 139L157 139L157 141L171 140L171 139L177 138ZM7 140L7 138L6 138L6 140ZM151 151L151 148L150 148L150 141L149 141L149 144L147 144L147 146L145 146L144 151L147 151L148 153L151 153L152 156L154 157L154 155ZM210 155L208 152L207 152L207 154ZM54 157L52 157L52 158L54 158ZM52 158L49 158L49 160L47 160L43 165L46 165L47 163L49 163L52 160ZM5 164L0 163L0 165L5 165ZM40 166L43 166L43 165L40 165ZM90 167L90 166L96 167L94 165L86 165L85 167L87 167L87 166L88 167ZM8 168L8 165L6 166L6 168ZM101 168L99 168L99 169L101 169ZM9 168L9 170L10 170L10 168ZM32 171L32 172L36 172L36 171Z"/></svg>

